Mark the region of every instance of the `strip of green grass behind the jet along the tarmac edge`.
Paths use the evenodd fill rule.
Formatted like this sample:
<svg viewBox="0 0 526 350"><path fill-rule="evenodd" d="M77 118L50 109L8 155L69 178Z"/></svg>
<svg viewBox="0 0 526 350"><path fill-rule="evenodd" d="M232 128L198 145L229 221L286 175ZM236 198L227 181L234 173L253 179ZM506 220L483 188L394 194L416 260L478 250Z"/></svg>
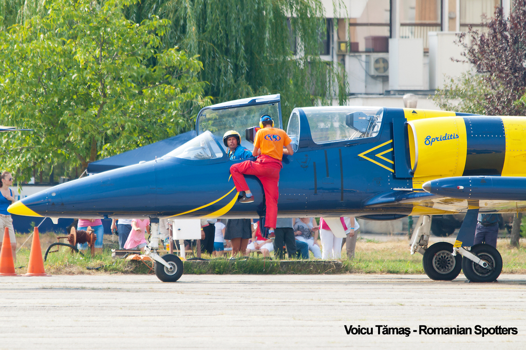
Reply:
<svg viewBox="0 0 526 350"><path fill-rule="evenodd" d="M27 239L27 235L17 236L18 246ZM44 255L50 243L56 242L52 234L41 235L41 248ZM27 241L17 254L15 267L17 273L27 272L27 261L31 240ZM94 258L90 254L71 253L61 248L57 253L48 255L44 263L48 274L99 274L126 273L147 274L151 262L127 261L113 259L109 248L115 248L116 242L105 241L107 249ZM509 240L501 239L497 246L502 255L504 266L502 273L526 273L526 242L521 241L520 248L511 248ZM345 251L344 251L345 253ZM356 244L356 256L347 260L345 254L339 261L292 260L278 261L256 257L241 258L230 261L226 258L209 261L185 261L185 274L333 274L333 273L386 273L386 274L423 274L422 255L409 254L408 240L379 242L377 240L359 240ZM312 253L311 253L312 258ZM97 269L98 268L98 269ZM97 269L97 270L94 270Z"/></svg>

